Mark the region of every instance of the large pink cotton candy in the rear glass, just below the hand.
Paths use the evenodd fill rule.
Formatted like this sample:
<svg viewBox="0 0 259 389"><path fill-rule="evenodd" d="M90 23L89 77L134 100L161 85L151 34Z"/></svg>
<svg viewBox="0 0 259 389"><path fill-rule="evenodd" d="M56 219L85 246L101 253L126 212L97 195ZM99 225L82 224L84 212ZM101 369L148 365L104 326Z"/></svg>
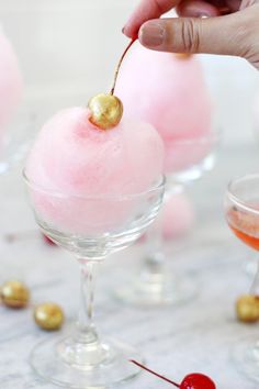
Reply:
<svg viewBox="0 0 259 389"><path fill-rule="evenodd" d="M181 144L212 134L212 102L195 56L158 53L136 42L122 64L115 92L126 116L149 122L160 133L166 173L187 169L210 152L210 140L195 151Z"/></svg>

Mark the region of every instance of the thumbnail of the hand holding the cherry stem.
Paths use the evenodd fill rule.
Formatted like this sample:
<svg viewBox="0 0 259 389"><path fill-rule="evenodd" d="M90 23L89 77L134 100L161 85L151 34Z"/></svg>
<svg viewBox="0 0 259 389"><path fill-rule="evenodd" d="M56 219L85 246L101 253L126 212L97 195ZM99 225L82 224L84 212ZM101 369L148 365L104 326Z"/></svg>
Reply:
<svg viewBox="0 0 259 389"><path fill-rule="evenodd" d="M159 22L147 22L139 31L140 42L148 47L159 47L165 40L165 29Z"/></svg>

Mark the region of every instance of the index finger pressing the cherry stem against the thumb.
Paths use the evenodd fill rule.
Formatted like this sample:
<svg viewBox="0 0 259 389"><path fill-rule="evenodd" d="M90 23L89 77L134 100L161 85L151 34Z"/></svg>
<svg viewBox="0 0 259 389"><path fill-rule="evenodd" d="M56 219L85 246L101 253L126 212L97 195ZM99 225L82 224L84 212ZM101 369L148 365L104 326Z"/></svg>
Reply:
<svg viewBox="0 0 259 389"><path fill-rule="evenodd" d="M123 29L128 37L136 37L140 25L150 19L158 19L171 10L180 0L142 0Z"/></svg>

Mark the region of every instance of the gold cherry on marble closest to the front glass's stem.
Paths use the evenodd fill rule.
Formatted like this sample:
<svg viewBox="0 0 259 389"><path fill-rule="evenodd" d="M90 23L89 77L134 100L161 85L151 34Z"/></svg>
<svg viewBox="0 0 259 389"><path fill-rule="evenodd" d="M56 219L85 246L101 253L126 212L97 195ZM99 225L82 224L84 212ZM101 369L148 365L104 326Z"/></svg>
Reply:
<svg viewBox="0 0 259 389"><path fill-rule="evenodd" d="M46 331L59 330L64 323L63 309L53 302L45 302L37 305L34 310L36 324Z"/></svg>

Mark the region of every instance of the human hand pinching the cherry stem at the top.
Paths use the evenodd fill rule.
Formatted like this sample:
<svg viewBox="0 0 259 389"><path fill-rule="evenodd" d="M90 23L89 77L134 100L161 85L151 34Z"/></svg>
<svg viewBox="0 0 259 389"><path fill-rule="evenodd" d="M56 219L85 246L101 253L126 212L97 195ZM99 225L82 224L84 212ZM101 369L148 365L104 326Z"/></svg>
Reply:
<svg viewBox="0 0 259 389"><path fill-rule="evenodd" d="M180 18L159 19L173 8ZM259 0L142 0L124 33L151 49L239 56L259 69Z"/></svg>

